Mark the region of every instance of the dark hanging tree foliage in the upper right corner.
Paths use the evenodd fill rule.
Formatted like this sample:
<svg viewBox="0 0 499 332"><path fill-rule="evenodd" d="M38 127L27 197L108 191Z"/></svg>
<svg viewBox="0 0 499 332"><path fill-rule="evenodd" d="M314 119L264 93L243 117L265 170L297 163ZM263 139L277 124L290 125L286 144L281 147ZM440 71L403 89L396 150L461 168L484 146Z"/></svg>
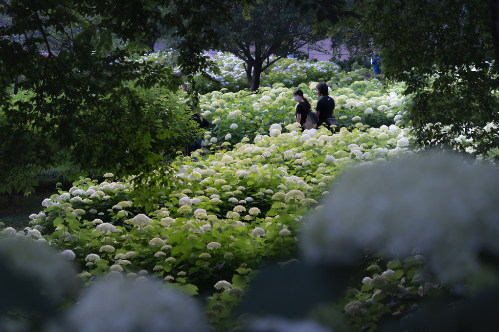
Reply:
<svg viewBox="0 0 499 332"><path fill-rule="evenodd" d="M389 81L412 94L409 125L422 147L453 146L461 134L476 153L499 147L498 66L481 0L358 1L362 43L378 49ZM432 125L428 126L428 123Z"/></svg>

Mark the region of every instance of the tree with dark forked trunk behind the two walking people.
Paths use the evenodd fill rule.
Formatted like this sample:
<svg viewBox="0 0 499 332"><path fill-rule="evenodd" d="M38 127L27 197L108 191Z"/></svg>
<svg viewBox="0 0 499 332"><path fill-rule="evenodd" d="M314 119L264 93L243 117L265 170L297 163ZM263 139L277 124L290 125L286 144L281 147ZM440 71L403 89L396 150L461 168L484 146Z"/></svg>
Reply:
<svg viewBox="0 0 499 332"><path fill-rule="evenodd" d="M324 39L326 29L317 22L331 17L337 20L344 1L330 1L328 10L316 11L317 1L268 0L255 4L248 12L236 6L231 22L218 30L222 51L228 51L245 62L250 91L258 89L260 74L278 59ZM330 21L328 21L330 22ZM271 56L274 58L270 59Z"/></svg>

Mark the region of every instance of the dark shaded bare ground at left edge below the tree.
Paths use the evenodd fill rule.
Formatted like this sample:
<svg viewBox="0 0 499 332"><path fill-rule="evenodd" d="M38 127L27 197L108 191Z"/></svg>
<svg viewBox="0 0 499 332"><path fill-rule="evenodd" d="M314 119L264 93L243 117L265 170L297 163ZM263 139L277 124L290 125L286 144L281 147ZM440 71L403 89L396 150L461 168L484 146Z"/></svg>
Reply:
<svg viewBox="0 0 499 332"><path fill-rule="evenodd" d="M4 227L22 229L29 223L29 215L39 213L41 202L53 193L34 193L28 197L12 195L11 202L8 195L0 195L0 221Z"/></svg>

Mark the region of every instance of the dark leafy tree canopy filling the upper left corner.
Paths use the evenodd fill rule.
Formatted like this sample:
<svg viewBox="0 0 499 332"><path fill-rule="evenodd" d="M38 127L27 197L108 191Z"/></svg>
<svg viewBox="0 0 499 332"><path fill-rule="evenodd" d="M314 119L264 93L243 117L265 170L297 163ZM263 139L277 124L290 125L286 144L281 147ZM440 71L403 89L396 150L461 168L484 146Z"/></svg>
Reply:
<svg viewBox="0 0 499 332"><path fill-rule="evenodd" d="M220 0L1 1L0 193L27 194L37 172L63 162L75 174L118 176L163 165L196 134L177 98L182 82L168 66L129 57L176 31L180 70L196 73L229 9Z"/></svg>

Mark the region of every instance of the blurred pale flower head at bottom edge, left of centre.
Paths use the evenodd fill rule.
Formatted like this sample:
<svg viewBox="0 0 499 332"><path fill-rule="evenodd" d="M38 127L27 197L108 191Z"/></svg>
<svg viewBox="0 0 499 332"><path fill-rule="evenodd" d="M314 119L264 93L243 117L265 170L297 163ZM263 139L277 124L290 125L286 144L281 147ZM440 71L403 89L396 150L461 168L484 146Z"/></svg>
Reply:
<svg viewBox="0 0 499 332"><path fill-rule="evenodd" d="M121 279L91 285L68 313L68 331L149 332L165 331L165 327L171 331L208 331L201 308L185 295L147 278L141 282Z"/></svg>

